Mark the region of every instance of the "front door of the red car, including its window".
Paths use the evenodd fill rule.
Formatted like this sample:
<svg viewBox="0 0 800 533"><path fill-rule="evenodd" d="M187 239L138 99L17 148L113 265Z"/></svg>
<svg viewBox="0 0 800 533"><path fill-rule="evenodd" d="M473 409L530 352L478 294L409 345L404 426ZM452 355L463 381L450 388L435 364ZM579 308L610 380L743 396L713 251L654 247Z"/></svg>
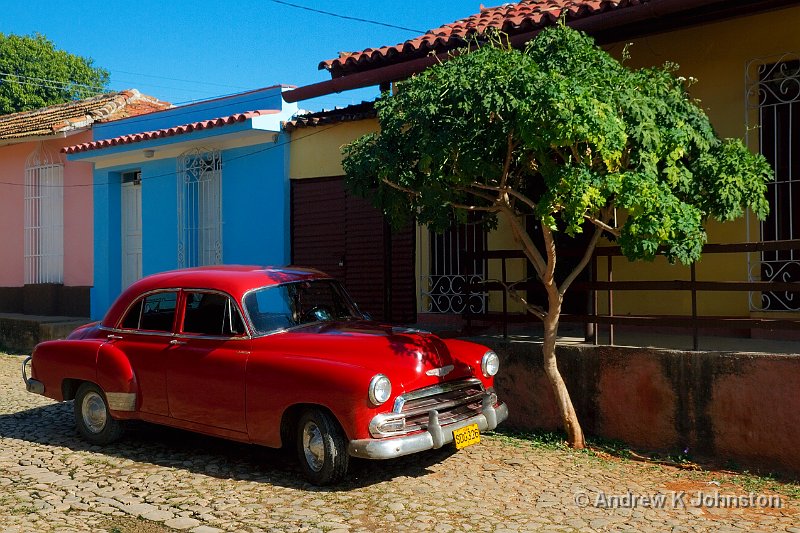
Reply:
<svg viewBox="0 0 800 533"><path fill-rule="evenodd" d="M185 290L180 326L167 357L170 416L246 432L245 368L250 341L238 306L228 295Z"/></svg>

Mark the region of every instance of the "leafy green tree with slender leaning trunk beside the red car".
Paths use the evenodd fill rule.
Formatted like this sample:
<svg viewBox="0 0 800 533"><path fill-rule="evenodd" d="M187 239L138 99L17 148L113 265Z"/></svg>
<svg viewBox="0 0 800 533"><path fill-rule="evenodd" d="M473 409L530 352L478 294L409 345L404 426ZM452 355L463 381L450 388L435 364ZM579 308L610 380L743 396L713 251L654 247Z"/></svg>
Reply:
<svg viewBox="0 0 800 533"><path fill-rule="evenodd" d="M544 322L544 369L569 444L585 446L558 370L564 294L601 236L631 260L700 258L704 223L768 212L766 160L717 137L675 67L626 68L564 25L524 50L494 38L461 50L376 103L380 132L344 148L346 180L395 224L434 230L469 212L504 217L547 294L528 310ZM615 210L627 216L615 217ZM526 231L535 217L543 246ZM554 235L591 238L557 273Z"/></svg>

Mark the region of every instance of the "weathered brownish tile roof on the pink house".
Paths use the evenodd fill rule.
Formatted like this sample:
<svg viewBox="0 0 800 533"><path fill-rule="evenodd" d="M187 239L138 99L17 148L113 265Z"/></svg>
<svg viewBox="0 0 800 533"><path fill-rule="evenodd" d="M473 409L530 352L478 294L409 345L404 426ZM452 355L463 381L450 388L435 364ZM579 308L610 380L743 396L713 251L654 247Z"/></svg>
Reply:
<svg viewBox="0 0 800 533"><path fill-rule="evenodd" d="M0 141L65 133L172 107L136 89L0 116Z"/></svg>

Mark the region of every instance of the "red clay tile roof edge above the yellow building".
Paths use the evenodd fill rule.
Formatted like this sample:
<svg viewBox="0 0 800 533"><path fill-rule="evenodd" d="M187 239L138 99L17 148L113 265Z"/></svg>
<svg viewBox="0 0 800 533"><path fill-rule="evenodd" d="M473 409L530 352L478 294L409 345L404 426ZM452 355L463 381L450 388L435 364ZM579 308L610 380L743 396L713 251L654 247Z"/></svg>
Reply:
<svg viewBox="0 0 800 533"><path fill-rule="evenodd" d="M361 52L341 52L336 59L319 64L328 69L333 77L368 70L417 57L432 51L437 53L465 44L465 39L474 34L483 34L490 28L509 35L526 33L552 25L562 13L567 21L585 18L599 13L624 9L647 3L649 0L522 0L513 4L486 8L480 13L456 22L445 24L425 35L409 39L395 46L367 48Z"/></svg>

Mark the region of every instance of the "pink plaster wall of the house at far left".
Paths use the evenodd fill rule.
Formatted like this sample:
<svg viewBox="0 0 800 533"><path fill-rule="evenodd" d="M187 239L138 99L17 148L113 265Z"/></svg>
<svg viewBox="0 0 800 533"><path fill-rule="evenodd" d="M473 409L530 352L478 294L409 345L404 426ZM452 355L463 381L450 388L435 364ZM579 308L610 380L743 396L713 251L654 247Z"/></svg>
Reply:
<svg viewBox="0 0 800 533"><path fill-rule="evenodd" d="M91 141L91 132L45 141L52 152ZM0 146L0 287L25 282L25 160L36 142ZM93 280L92 165L64 165L64 285L91 286Z"/></svg>

